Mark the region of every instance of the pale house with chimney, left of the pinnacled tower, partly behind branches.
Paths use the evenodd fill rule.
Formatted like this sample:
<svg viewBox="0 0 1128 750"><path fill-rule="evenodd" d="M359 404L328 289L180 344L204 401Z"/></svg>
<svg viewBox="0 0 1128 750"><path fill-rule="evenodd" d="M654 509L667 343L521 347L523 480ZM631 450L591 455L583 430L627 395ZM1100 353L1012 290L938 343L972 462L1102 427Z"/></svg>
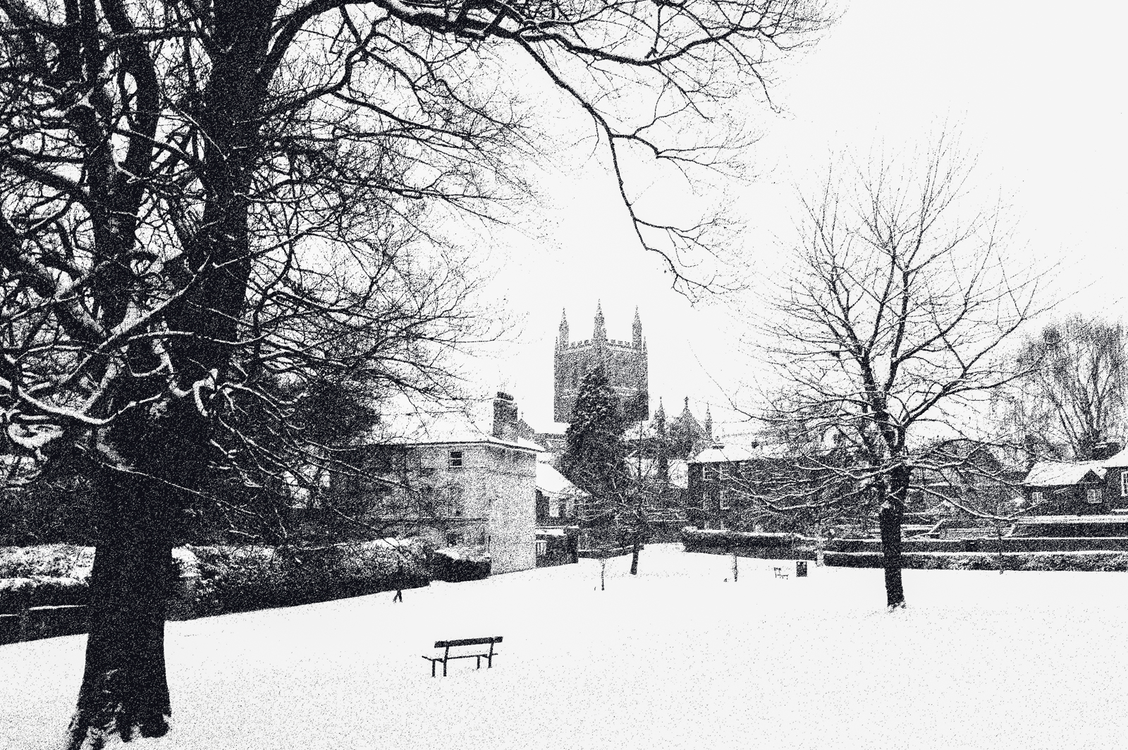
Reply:
<svg viewBox="0 0 1128 750"><path fill-rule="evenodd" d="M492 400L441 413L382 420L351 461L361 477L341 477L333 490L363 505L385 533L412 533L438 547L481 546L492 573L537 564L537 453L517 434L517 404Z"/></svg>

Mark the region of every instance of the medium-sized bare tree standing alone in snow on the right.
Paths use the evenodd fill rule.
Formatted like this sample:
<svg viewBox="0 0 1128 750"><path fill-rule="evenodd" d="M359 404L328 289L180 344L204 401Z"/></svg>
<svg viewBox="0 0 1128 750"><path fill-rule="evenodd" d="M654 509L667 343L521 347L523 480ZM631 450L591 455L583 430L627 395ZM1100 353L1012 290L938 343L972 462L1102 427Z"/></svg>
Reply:
<svg viewBox="0 0 1128 750"><path fill-rule="evenodd" d="M1015 377L998 349L1033 312L1001 212L966 206L971 167L944 134L919 165L831 174L803 203L795 267L765 323L785 385L763 417L810 446L772 507L875 508L890 608L905 604L913 441L959 430Z"/></svg>

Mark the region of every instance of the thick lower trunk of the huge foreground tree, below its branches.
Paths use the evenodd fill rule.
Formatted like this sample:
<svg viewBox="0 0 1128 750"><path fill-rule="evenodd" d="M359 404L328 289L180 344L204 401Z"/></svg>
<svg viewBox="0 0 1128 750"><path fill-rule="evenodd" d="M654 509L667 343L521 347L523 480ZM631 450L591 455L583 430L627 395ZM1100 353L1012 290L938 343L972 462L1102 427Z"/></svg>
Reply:
<svg viewBox="0 0 1128 750"><path fill-rule="evenodd" d="M116 482L114 483L116 485ZM171 573L168 503L150 482L111 485L90 574L90 633L68 748L161 736L171 713L165 610ZM149 489L149 492L144 490Z"/></svg>

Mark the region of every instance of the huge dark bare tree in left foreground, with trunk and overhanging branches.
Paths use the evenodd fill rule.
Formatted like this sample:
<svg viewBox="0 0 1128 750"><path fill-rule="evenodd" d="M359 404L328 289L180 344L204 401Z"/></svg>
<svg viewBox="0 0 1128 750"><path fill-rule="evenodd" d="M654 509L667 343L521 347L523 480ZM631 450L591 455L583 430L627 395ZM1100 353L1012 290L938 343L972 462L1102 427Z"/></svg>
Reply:
<svg viewBox="0 0 1128 750"><path fill-rule="evenodd" d="M496 216L534 143L514 63L594 124L677 272L704 228L637 213L624 159L717 163L739 131L689 124L826 23L818 0L0 0L0 399L103 520L71 744L167 731L171 531L217 472L289 462L294 382L376 358L434 385L462 321L385 253L434 210ZM423 312L385 320L389 296Z"/></svg>

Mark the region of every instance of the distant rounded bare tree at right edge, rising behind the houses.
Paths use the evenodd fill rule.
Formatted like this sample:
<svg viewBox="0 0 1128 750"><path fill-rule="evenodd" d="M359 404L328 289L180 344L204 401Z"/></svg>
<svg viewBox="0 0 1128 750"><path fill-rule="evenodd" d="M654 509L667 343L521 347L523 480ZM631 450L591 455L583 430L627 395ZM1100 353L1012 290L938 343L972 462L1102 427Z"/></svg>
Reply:
<svg viewBox="0 0 1128 750"><path fill-rule="evenodd" d="M1005 427L1036 457L1056 445L1087 461L1125 437L1128 332L1122 323L1070 315L1028 335L1015 356L1026 373L999 393Z"/></svg>

